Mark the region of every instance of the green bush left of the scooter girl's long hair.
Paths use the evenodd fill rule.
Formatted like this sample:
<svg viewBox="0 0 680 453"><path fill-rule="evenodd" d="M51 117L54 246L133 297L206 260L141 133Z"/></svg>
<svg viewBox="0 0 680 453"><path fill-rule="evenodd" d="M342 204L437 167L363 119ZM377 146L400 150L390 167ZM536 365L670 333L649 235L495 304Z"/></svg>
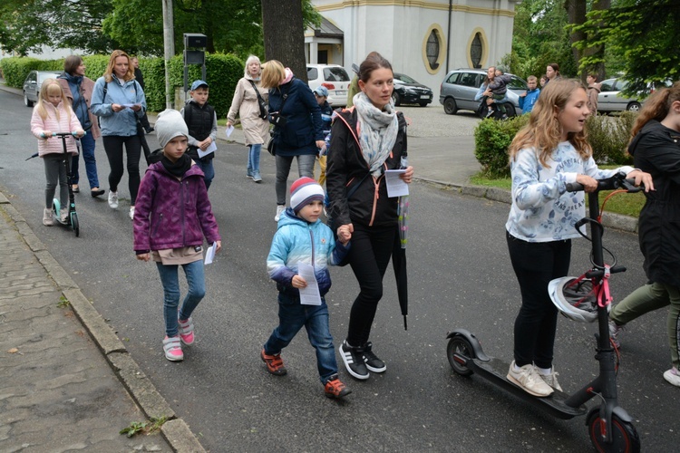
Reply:
<svg viewBox="0 0 680 453"><path fill-rule="evenodd" d="M510 177L508 148L517 132L529 122L529 115L510 120L481 120L474 130L474 156L487 178Z"/></svg>

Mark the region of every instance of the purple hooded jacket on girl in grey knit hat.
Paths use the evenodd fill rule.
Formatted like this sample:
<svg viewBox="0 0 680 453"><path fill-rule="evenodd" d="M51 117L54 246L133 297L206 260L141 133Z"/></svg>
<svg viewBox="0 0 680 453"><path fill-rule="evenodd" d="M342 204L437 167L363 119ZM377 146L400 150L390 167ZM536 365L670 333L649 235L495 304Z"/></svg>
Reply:
<svg viewBox="0 0 680 453"><path fill-rule="evenodd" d="M203 171L196 164L180 179L160 162L141 178L134 211L134 250L167 250L221 240Z"/></svg>

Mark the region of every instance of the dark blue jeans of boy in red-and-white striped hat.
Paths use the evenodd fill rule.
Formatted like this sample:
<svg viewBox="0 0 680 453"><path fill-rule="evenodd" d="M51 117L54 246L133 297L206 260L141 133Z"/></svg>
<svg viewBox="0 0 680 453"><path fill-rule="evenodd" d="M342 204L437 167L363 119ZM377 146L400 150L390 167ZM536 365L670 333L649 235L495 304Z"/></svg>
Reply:
<svg viewBox="0 0 680 453"><path fill-rule="evenodd" d="M316 350L316 368L321 383L337 374L333 337L328 325L328 306L321 298L321 305L300 304L299 297L278 294L278 327L265 343L265 353L277 355L305 326L309 342Z"/></svg>

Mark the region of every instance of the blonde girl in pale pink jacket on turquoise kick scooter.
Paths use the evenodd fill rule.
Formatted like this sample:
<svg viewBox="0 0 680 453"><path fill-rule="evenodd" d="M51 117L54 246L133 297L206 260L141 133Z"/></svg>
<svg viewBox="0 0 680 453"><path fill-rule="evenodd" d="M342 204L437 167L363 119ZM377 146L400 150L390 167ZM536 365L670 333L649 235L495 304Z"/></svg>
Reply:
<svg viewBox="0 0 680 453"><path fill-rule="evenodd" d="M53 132L75 132L83 137L84 130L78 118L73 114L71 105L66 99L62 85L55 79L46 79L38 94L38 102L31 117L31 132L38 139L38 156L43 158L45 186L45 204L43 225L52 226L52 200L57 184L61 200L60 220L66 221L69 206L68 162L64 159L63 143L60 138L53 138ZM78 154L73 137L66 137L66 151L73 157Z"/></svg>

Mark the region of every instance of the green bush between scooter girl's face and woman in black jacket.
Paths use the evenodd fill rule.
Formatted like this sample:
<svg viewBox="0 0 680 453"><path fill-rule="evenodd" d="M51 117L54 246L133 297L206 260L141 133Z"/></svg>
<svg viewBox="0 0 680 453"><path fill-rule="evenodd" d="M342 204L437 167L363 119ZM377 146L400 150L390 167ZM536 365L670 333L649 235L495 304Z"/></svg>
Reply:
<svg viewBox="0 0 680 453"><path fill-rule="evenodd" d="M630 130L637 113L624 111L620 116L591 115L586 120L588 141L593 148L597 164L630 165L632 156L627 152Z"/></svg>

